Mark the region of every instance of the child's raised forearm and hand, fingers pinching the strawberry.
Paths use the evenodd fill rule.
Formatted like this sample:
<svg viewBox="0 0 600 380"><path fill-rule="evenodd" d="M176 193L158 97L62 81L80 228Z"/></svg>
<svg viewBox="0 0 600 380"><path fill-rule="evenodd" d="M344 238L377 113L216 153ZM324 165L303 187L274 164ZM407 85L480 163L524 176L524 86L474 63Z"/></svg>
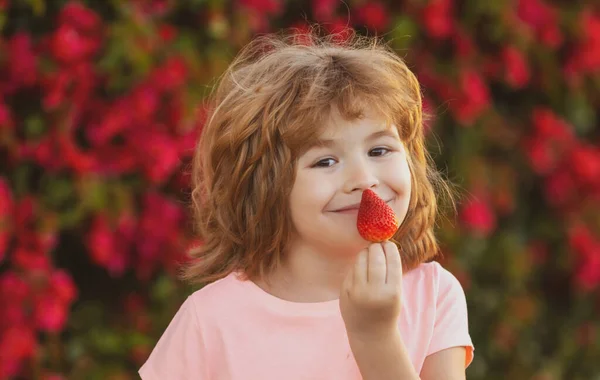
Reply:
<svg viewBox="0 0 600 380"><path fill-rule="evenodd" d="M371 244L360 252L340 295L350 347L364 380L418 379L397 321L402 262L395 244Z"/></svg>

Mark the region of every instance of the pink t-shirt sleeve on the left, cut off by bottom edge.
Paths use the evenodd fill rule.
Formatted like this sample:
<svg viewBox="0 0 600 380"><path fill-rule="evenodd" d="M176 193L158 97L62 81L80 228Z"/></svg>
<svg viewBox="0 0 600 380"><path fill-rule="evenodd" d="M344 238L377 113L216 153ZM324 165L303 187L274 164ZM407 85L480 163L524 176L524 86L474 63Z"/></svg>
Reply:
<svg viewBox="0 0 600 380"><path fill-rule="evenodd" d="M138 373L142 380L206 380L205 352L194 305L188 297Z"/></svg>

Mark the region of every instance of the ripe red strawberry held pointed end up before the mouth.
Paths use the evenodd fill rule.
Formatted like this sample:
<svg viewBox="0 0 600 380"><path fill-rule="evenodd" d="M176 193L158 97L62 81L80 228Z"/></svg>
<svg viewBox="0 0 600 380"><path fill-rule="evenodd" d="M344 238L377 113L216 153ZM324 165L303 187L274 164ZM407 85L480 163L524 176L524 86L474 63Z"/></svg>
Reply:
<svg viewBox="0 0 600 380"><path fill-rule="evenodd" d="M378 243L390 239L400 223L394 210L372 190L363 191L356 227L363 239Z"/></svg>

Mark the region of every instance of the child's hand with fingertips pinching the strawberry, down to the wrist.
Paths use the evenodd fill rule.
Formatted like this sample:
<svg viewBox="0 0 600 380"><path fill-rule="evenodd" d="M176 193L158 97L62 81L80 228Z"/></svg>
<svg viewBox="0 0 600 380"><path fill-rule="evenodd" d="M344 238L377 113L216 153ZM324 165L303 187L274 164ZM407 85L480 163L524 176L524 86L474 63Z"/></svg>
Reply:
<svg viewBox="0 0 600 380"><path fill-rule="evenodd" d="M401 294L402 260L396 244L373 243L362 250L340 294L348 335L373 337L395 331Z"/></svg>

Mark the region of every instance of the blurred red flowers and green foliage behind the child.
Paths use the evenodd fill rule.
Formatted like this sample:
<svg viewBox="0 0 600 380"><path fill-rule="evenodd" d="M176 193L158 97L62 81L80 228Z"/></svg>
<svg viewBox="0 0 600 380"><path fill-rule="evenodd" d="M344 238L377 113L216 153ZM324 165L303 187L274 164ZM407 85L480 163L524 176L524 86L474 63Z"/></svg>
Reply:
<svg viewBox="0 0 600 380"><path fill-rule="evenodd" d="M202 100L254 35L378 35L460 190L469 379L600 379L600 3L0 0L0 379L137 379L194 289Z"/></svg>

